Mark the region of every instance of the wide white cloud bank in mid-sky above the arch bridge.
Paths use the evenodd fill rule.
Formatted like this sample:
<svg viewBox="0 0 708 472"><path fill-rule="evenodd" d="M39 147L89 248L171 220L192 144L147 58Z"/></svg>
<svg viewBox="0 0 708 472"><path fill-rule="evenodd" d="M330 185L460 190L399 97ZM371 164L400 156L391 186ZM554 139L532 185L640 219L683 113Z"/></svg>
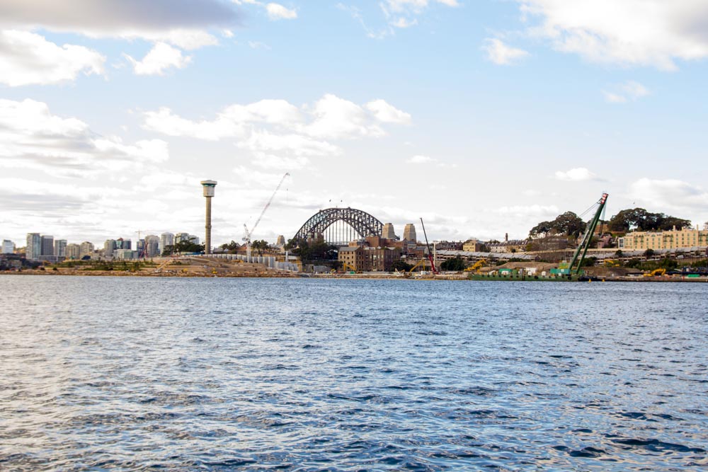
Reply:
<svg viewBox="0 0 708 472"><path fill-rule="evenodd" d="M209 141L236 139L239 149L250 151L253 163L263 168L282 163L297 168L308 157L337 156L342 150L331 139L379 137L382 123L408 123L411 116L385 100L357 105L326 94L312 106L297 108L286 100L260 100L233 104L213 120L188 120L169 108L145 112L143 128L170 136Z"/></svg>

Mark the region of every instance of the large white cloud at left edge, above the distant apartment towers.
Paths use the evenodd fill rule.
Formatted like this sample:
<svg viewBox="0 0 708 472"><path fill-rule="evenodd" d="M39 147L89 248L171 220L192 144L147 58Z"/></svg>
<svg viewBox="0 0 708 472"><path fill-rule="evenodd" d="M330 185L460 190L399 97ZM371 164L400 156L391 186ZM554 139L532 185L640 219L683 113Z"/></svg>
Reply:
<svg viewBox="0 0 708 472"><path fill-rule="evenodd" d="M124 144L103 137L73 117L52 115L46 103L0 100L0 161L6 168L33 168L52 175L128 170L169 159L161 139Z"/></svg>

